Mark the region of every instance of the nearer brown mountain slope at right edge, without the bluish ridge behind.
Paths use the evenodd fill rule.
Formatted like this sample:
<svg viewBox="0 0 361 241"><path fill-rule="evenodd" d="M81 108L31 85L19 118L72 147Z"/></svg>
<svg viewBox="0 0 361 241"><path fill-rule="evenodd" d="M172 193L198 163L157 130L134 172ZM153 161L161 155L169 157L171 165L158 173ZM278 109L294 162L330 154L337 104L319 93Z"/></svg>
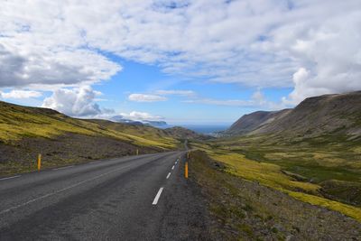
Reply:
<svg viewBox="0 0 361 241"><path fill-rule="evenodd" d="M358 136L361 134L361 91L306 98L287 115L252 132L273 133L305 137L319 134Z"/></svg>

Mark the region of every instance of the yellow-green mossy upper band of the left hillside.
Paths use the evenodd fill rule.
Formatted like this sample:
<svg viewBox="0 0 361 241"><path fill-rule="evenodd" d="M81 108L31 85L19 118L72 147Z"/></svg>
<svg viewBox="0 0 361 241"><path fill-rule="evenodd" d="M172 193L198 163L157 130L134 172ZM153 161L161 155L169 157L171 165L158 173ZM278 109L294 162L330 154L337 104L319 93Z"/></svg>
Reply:
<svg viewBox="0 0 361 241"><path fill-rule="evenodd" d="M58 112L0 103L0 141L14 143L23 137L56 138L60 134L107 136L128 143L172 149L178 141L151 126L136 126L70 118Z"/></svg>

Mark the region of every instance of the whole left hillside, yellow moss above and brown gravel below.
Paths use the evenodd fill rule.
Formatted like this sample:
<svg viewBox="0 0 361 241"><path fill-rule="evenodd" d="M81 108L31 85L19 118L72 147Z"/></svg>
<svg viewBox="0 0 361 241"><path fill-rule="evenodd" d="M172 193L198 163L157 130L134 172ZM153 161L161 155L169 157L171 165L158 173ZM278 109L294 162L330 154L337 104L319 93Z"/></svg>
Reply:
<svg viewBox="0 0 361 241"><path fill-rule="evenodd" d="M42 153L43 167L87 162L181 146L160 129L105 120L83 120L51 109L0 102L0 175L33 171Z"/></svg>

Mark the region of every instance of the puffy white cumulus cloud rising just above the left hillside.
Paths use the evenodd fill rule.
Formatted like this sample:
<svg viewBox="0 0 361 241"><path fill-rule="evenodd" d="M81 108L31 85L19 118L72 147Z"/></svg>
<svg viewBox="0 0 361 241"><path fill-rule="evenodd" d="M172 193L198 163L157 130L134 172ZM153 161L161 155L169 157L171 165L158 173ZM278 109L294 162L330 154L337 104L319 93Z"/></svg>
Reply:
<svg viewBox="0 0 361 241"><path fill-rule="evenodd" d="M60 111L68 116L101 116L112 110L101 109L95 98L99 92L85 86L81 88L60 88L53 92L51 97L44 99L42 107L47 107Z"/></svg>

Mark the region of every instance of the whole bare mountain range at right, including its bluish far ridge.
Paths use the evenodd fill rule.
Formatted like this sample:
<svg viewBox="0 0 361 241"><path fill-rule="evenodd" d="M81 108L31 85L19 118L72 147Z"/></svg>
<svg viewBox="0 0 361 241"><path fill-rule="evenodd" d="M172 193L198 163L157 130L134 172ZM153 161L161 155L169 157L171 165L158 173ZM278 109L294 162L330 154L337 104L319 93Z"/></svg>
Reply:
<svg viewBox="0 0 361 241"><path fill-rule="evenodd" d="M224 134L282 134L309 138L320 134L361 136L361 91L309 97L293 109L242 116Z"/></svg>

